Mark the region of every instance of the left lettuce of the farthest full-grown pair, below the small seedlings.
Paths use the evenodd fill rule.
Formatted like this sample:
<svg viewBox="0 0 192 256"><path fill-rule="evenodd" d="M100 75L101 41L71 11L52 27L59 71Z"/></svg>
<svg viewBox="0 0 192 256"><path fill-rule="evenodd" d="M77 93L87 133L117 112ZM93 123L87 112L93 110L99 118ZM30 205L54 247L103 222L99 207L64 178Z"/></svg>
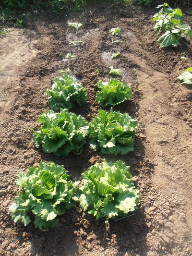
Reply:
<svg viewBox="0 0 192 256"><path fill-rule="evenodd" d="M52 110L69 110L75 104L82 106L87 99L85 88L69 73L60 73L60 76L54 79L52 88L46 90L46 95Z"/></svg>

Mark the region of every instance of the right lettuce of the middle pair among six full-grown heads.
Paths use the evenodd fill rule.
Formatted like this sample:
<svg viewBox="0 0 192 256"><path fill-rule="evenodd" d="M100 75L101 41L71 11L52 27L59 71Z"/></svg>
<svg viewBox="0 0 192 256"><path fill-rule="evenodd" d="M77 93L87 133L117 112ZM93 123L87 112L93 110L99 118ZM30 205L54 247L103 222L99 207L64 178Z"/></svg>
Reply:
<svg viewBox="0 0 192 256"><path fill-rule="evenodd" d="M98 115L89 124L90 146L100 149L103 154L127 154L134 149L136 120L128 113L99 110Z"/></svg>

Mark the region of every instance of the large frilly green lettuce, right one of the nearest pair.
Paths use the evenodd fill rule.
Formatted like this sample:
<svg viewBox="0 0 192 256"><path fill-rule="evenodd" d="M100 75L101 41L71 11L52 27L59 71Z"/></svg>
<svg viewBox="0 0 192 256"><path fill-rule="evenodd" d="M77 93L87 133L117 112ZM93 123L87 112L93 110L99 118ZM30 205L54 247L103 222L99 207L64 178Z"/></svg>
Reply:
<svg viewBox="0 0 192 256"><path fill-rule="evenodd" d="M97 220L124 217L136 210L139 192L129 169L122 160L113 164L104 159L84 171L80 207L96 216Z"/></svg>

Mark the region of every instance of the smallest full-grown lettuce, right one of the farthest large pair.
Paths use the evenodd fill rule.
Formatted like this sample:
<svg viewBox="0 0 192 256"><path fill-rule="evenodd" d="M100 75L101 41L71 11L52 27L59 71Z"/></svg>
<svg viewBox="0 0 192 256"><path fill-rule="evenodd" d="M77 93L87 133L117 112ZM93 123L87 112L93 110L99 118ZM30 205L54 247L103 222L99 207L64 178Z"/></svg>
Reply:
<svg viewBox="0 0 192 256"><path fill-rule="evenodd" d="M102 107L115 106L132 99L132 89L118 79L110 79L107 83L98 81L96 85L99 88L96 101L100 102Z"/></svg>

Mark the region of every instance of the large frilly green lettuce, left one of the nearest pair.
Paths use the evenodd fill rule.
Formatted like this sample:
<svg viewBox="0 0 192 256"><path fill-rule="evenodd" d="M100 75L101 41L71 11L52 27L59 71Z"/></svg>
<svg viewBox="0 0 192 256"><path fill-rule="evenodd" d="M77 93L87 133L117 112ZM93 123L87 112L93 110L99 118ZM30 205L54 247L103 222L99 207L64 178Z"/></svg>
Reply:
<svg viewBox="0 0 192 256"><path fill-rule="evenodd" d="M14 222L22 222L24 226L35 217L36 228L53 228L59 222L57 216L74 206L72 197L77 184L69 181L62 165L41 162L26 173L19 173L16 184L22 191L14 199L10 213Z"/></svg>

